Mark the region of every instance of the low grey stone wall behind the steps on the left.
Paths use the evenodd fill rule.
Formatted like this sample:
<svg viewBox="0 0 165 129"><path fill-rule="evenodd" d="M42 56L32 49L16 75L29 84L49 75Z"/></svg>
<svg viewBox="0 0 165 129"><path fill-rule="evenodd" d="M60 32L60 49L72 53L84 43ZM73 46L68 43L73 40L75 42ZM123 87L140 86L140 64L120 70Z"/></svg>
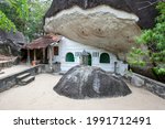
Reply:
<svg viewBox="0 0 165 129"><path fill-rule="evenodd" d="M37 65L32 68L28 68L25 71L19 72L13 75L9 75L6 77L0 78L0 92L7 90L14 85L16 85L16 76L24 74L24 73L31 73L31 75L37 75L40 73L45 73L45 65Z"/></svg>

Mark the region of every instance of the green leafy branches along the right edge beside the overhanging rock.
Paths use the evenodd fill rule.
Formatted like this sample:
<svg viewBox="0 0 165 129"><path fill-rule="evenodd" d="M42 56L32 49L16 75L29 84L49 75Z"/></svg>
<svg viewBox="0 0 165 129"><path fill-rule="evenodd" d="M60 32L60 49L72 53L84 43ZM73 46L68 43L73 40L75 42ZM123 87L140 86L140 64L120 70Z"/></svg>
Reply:
<svg viewBox="0 0 165 129"><path fill-rule="evenodd" d="M160 15L156 18L155 28L144 30L136 41L139 44L147 45L150 60L155 65L153 68L155 73L165 75L165 2L158 2L156 9L160 11ZM144 53L141 54L141 52L136 53L136 51L142 52L140 49L134 49L130 52L130 55L135 56L130 56L132 61L130 61L130 63L132 65L141 65L141 62L138 62L136 56L141 56L141 58L143 58L145 55Z"/></svg>

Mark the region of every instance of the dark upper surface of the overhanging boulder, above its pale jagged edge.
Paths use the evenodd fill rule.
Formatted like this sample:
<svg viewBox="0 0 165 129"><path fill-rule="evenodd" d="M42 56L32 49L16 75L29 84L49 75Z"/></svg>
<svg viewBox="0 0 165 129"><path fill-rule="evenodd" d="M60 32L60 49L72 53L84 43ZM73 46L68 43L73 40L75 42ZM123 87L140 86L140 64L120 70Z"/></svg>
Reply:
<svg viewBox="0 0 165 129"><path fill-rule="evenodd" d="M140 18L139 25L143 29L147 29L152 28L155 23L154 19L157 12L154 3L156 3L156 1L163 0L53 0L45 18L51 18L74 6L78 6L84 10L87 10L106 4L118 10L136 14Z"/></svg>

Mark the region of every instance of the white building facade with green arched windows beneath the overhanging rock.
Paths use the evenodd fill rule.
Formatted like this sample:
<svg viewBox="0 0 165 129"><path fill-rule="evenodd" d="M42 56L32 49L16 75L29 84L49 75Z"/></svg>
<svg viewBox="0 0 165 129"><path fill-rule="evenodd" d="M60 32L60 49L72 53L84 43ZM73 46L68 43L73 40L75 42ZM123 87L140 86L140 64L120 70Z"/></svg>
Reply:
<svg viewBox="0 0 165 129"><path fill-rule="evenodd" d="M128 71L128 64L119 61L114 54L102 49L84 45L64 36L56 47L58 47L58 53L54 55L53 62L59 62L61 71L63 72L82 64L84 52L86 52L88 56L87 65L97 66L107 72L121 75L124 75Z"/></svg>

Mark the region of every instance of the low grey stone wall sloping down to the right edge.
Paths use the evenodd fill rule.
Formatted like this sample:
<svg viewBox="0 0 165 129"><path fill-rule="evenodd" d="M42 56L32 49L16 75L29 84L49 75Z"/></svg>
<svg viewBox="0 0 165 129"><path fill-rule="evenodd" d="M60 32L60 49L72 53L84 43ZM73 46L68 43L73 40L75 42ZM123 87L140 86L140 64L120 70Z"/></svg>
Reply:
<svg viewBox="0 0 165 129"><path fill-rule="evenodd" d="M125 78L136 87L143 87L151 93L162 97L165 99L165 84L153 80L145 76L132 73L129 76L127 75Z"/></svg>

